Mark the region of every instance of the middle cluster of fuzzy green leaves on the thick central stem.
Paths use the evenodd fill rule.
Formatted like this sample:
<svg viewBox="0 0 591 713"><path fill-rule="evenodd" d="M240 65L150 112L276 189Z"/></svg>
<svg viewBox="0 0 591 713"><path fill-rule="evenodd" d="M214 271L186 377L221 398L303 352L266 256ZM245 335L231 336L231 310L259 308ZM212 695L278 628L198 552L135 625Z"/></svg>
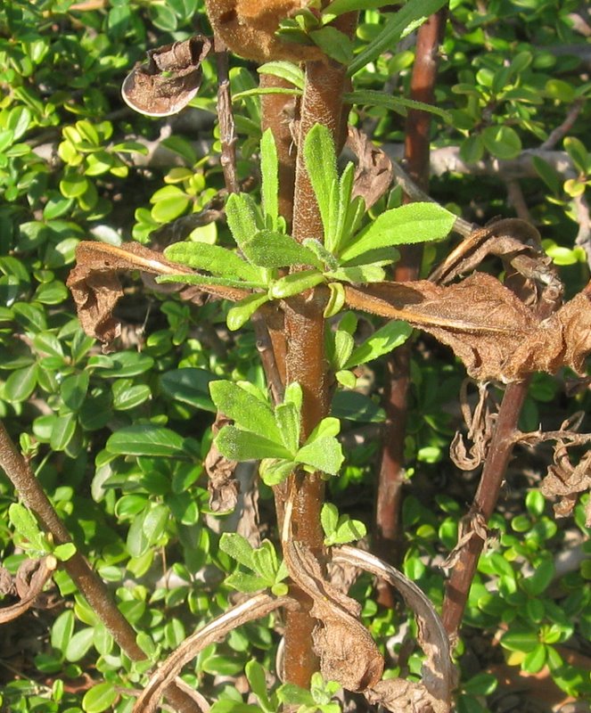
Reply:
<svg viewBox="0 0 591 713"><path fill-rule="evenodd" d="M218 411L234 421L219 431L219 452L234 461L260 460L260 475L267 485L282 482L296 468L336 475L344 457L336 436L338 419L324 418L300 446L302 391L300 384L285 389L283 403L271 406L248 381L212 381L211 398Z"/></svg>

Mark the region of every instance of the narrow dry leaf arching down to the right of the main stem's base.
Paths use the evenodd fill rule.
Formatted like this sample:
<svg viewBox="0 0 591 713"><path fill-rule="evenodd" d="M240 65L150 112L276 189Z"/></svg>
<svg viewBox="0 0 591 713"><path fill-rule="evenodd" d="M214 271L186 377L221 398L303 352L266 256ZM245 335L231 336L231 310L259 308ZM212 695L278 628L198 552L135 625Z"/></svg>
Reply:
<svg viewBox="0 0 591 713"><path fill-rule="evenodd" d="M360 570L385 579L402 595L406 606L415 612L419 626L418 643L427 654L423 664L424 687L435 701L442 701L449 709L452 691L456 684L456 669L451 661L447 632L427 596L415 585L415 582L406 578L390 564L357 547L344 545L333 548L332 561L347 562Z"/></svg>

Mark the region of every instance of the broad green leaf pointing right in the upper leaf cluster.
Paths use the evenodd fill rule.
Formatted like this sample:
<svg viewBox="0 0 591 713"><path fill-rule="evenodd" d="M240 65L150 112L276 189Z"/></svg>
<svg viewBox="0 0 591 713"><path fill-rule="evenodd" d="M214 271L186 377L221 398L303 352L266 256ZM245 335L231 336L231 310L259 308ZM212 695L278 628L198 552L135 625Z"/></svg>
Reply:
<svg viewBox="0 0 591 713"><path fill-rule="evenodd" d="M441 240L449 234L456 216L437 203L408 203L386 210L341 250L341 259L391 245Z"/></svg>

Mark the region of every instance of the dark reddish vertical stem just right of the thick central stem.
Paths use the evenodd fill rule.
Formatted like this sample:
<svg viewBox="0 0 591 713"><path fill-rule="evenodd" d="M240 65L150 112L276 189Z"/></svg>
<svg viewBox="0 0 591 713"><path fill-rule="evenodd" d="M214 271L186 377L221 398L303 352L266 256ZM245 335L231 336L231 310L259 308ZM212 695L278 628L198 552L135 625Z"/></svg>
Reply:
<svg viewBox="0 0 591 713"><path fill-rule="evenodd" d="M440 38L445 28L446 12L431 15L418 30L416 56L410 95L420 102L433 102L438 70ZM405 159L408 174L426 193L429 188L429 132L431 114L426 111L408 111L406 119ZM410 201L405 196L405 202ZM400 250L400 260L394 279L399 282L416 280L421 267L423 249L420 245L407 245ZM387 385L383 406L388 417L384 434L382 459L378 477L375 504L376 553L396 563L401 558L402 539L400 507L405 479L404 446L406 438L407 395L410 384L411 344L407 342L390 355L387 367ZM392 607L394 597L385 583L380 587L379 601Z"/></svg>

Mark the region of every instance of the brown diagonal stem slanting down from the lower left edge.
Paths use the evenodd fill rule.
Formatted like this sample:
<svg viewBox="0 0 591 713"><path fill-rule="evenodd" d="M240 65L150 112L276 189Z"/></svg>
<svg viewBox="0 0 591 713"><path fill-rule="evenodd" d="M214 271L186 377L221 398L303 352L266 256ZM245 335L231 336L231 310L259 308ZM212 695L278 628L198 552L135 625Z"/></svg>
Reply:
<svg viewBox="0 0 591 713"><path fill-rule="evenodd" d="M53 542L56 545L70 543L72 541L70 533L64 527L30 469L29 463L17 450L2 422L0 422L0 467L11 480L22 502L37 515L45 532L51 533ZM103 580L96 575L82 554L78 551L74 553L68 561L63 562L63 567L74 580L79 591L84 594L92 610L119 643L121 650L131 660L144 660L145 654L135 642L134 628L121 614ZM183 713L195 713L200 710L186 693L176 688L176 685L168 686L166 695L176 709Z"/></svg>

